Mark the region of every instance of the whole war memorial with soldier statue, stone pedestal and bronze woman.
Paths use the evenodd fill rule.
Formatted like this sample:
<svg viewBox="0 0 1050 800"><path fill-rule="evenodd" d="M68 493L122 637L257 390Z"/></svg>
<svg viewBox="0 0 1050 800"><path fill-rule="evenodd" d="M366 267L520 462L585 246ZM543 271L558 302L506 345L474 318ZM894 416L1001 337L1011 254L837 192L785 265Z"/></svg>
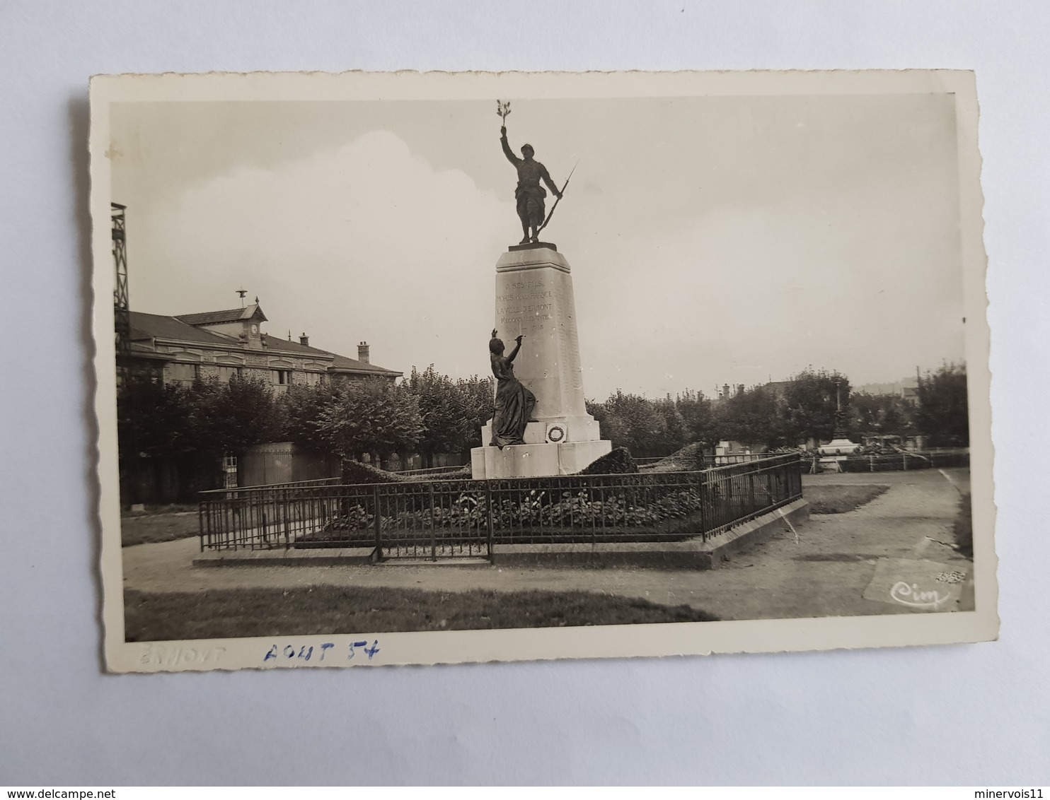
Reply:
<svg viewBox="0 0 1050 800"><path fill-rule="evenodd" d="M474 478L570 475L610 452L612 442L602 438L584 404L572 268L554 244L540 241L568 180L559 190L531 145L521 148L523 157L514 155L505 124L510 104L498 102L498 113L503 153L518 171L514 199L524 235L496 262L495 413L482 428L483 447L470 451L470 471ZM556 198L550 214L541 181ZM508 353L510 339L516 344Z"/></svg>

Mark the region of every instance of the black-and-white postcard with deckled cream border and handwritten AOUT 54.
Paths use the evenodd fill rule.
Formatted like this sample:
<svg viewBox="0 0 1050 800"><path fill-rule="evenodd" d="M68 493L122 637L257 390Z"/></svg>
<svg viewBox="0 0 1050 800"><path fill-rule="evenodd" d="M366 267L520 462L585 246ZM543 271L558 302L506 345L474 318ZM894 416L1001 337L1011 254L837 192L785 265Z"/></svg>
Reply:
<svg viewBox="0 0 1050 800"><path fill-rule="evenodd" d="M103 75L114 672L995 639L974 78Z"/></svg>

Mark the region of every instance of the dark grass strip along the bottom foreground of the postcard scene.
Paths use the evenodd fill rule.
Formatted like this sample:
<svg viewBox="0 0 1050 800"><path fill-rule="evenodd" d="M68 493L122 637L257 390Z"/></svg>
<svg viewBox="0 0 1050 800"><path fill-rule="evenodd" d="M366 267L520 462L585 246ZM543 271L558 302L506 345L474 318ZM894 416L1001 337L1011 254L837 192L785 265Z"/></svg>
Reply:
<svg viewBox="0 0 1050 800"><path fill-rule="evenodd" d="M549 628L718 618L588 591L439 592L386 586L124 592L128 642L405 630Z"/></svg>

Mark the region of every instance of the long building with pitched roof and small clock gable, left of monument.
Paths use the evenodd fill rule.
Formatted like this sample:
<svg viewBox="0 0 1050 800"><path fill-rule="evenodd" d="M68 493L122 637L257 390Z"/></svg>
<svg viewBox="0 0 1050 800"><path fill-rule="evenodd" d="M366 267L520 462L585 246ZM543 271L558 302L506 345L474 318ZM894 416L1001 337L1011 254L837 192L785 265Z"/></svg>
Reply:
<svg viewBox="0 0 1050 800"><path fill-rule="evenodd" d="M371 363L369 345L361 342L357 359L262 332L267 317L258 302L244 308L165 317L131 311L129 361L132 368L151 372L165 384L192 384L197 377L229 381L233 375L261 377L274 392L289 386L316 386L330 381L383 377L402 372Z"/></svg>

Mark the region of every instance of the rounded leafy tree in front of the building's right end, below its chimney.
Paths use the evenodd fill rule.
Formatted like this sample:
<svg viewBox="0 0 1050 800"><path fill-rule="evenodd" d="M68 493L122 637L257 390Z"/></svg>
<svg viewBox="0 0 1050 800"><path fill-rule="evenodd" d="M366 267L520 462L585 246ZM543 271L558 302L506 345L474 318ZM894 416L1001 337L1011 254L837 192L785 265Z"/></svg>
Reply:
<svg viewBox="0 0 1050 800"><path fill-rule="evenodd" d="M423 432L419 402L403 384L366 379L337 387L321 412L318 432L333 453L386 457L412 450Z"/></svg>

